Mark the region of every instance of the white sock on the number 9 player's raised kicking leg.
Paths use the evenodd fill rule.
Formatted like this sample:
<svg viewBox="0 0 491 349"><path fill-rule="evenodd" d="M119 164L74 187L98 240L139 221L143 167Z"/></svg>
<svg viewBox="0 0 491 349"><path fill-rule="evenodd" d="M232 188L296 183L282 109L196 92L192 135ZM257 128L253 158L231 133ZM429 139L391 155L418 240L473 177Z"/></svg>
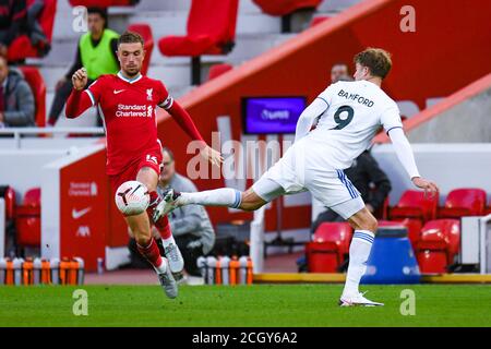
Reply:
<svg viewBox="0 0 491 349"><path fill-rule="evenodd" d="M177 200L179 205L197 204L205 206L228 206L232 208L239 208L241 202L241 192L231 188L181 193Z"/></svg>

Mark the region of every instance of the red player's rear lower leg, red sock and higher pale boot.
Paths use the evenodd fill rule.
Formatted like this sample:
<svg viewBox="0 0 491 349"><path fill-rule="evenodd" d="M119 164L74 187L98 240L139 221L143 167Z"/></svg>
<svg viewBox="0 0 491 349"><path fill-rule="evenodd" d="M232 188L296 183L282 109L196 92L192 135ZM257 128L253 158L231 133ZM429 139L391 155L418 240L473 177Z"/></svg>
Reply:
<svg viewBox="0 0 491 349"><path fill-rule="evenodd" d="M166 253L167 258L169 260L170 270L172 272L176 280L180 280L182 278L182 272L184 269L184 260L182 258L181 251L179 250L176 240L173 240L172 231L170 229L169 220L166 215L161 215L157 220L153 219L155 207L161 202L161 198L158 196L157 192L151 192L151 203L146 213L148 215L148 219L153 221L155 228L160 233L164 251Z"/></svg>

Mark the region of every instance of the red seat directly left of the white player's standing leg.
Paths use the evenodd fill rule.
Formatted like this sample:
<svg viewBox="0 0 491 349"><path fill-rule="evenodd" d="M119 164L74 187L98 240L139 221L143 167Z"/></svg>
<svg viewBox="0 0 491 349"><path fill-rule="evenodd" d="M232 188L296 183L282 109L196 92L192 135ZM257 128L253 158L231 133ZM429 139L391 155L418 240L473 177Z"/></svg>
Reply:
<svg viewBox="0 0 491 349"><path fill-rule="evenodd" d="M306 244L309 273L336 273L349 253L352 229L348 222L323 222Z"/></svg>

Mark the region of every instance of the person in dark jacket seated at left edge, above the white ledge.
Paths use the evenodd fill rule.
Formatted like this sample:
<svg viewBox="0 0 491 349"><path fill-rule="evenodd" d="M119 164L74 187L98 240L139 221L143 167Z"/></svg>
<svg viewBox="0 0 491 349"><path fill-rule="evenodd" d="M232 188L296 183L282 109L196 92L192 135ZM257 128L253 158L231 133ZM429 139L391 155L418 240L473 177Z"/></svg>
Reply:
<svg viewBox="0 0 491 349"><path fill-rule="evenodd" d="M35 127L35 103L22 72L0 56L0 128Z"/></svg>

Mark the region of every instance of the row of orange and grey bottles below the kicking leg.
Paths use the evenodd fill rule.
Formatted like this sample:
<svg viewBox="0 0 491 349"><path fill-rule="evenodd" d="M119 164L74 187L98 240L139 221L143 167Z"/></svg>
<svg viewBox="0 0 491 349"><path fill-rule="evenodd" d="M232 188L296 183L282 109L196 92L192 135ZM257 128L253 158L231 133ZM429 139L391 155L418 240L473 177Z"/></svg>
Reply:
<svg viewBox="0 0 491 349"><path fill-rule="evenodd" d="M251 285L253 263L251 257L201 256L196 261L206 285Z"/></svg>

